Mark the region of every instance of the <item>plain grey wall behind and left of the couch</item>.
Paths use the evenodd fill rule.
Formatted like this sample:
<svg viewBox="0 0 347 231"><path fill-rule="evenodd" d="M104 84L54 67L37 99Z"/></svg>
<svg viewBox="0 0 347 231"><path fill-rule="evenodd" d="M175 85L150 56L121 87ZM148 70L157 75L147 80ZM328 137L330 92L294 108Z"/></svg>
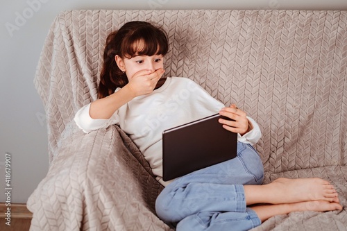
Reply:
<svg viewBox="0 0 347 231"><path fill-rule="evenodd" d="M58 12L71 9L303 9L347 10L346 0L0 0L0 202L26 203L48 171L44 108L33 86L42 44Z"/></svg>

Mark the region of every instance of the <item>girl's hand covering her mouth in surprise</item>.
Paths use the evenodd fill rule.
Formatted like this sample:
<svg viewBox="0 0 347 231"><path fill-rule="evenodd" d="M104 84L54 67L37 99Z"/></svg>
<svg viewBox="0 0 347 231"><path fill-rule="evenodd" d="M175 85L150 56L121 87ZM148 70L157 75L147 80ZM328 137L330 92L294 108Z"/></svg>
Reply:
<svg viewBox="0 0 347 231"><path fill-rule="evenodd" d="M158 80L162 77L165 70L160 68L151 73L151 70L142 70L134 74L127 84L128 89L134 97L142 96L153 92Z"/></svg>

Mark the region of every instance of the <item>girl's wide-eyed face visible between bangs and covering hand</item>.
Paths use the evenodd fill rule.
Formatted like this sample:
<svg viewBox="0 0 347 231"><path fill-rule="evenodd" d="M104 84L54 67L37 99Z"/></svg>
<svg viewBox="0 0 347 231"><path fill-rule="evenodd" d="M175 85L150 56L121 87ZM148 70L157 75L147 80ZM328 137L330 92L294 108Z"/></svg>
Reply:
<svg viewBox="0 0 347 231"><path fill-rule="evenodd" d="M119 69L126 72L129 81L139 71L149 70L152 74L164 67L162 55L138 55L133 58L121 58L116 55L115 59Z"/></svg>

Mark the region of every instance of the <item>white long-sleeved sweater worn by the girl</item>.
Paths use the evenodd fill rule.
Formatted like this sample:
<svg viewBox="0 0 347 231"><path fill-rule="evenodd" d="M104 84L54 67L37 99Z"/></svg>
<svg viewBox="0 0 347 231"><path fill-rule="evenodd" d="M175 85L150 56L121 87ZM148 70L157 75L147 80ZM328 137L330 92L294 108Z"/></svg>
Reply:
<svg viewBox="0 0 347 231"><path fill-rule="evenodd" d="M119 89L116 89L116 92ZM216 114L225 107L202 87L188 78L167 78L164 85L150 94L137 96L121 106L110 119L92 119L90 104L78 110L74 120L84 132L117 124L126 132L149 162L162 185L162 131ZM261 137L257 123L248 117L253 130L238 141L255 144Z"/></svg>

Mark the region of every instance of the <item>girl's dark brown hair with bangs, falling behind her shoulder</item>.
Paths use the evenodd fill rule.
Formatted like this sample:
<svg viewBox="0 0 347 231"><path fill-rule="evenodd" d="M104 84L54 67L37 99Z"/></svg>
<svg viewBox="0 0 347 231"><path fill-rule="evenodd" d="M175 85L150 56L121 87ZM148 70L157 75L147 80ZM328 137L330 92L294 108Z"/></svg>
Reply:
<svg viewBox="0 0 347 231"><path fill-rule="evenodd" d="M137 43L143 45L138 47ZM124 87L128 83L126 74L119 69L115 61L116 55L121 58L166 55L168 50L166 33L148 22L127 22L118 31L110 33L103 53L98 98L109 96L117 87Z"/></svg>

